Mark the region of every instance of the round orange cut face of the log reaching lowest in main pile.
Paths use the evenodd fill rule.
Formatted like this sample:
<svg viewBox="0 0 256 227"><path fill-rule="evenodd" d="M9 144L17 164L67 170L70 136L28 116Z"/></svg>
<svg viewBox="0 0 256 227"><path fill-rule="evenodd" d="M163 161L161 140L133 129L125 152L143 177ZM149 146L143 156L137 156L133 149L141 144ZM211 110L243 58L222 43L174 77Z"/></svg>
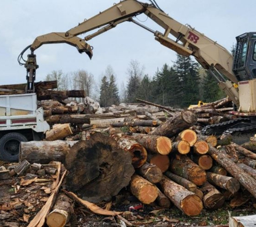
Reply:
<svg viewBox="0 0 256 227"><path fill-rule="evenodd" d="M197 195L189 195L182 200L181 207L188 216L197 216L203 209L203 203Z"/></svg>

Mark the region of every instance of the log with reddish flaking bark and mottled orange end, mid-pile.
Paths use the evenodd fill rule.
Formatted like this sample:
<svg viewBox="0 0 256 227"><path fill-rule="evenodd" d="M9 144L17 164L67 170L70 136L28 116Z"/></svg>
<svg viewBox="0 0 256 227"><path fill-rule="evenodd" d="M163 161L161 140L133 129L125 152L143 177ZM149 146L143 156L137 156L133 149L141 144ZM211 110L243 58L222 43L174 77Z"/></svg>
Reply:
<svg viewBox="0 0 256 227"><path fill-rule="evenodd" d="M176 158L171 161L170 170L172 173L195 183L197 186L203 185L206 181L204 169L185 155L176 155Z"/></svg>

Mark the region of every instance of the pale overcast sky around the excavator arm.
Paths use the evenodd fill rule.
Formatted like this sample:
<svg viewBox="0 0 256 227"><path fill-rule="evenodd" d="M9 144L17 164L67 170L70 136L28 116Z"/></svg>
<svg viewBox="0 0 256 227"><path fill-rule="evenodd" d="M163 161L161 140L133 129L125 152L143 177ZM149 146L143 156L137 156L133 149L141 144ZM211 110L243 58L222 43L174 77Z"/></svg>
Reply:
<svg viewBox="0 0 256 227"><path fill-rule="evenodd" d="M147 1L144 1L147 2ZM236 42L235 37L256 31L254 0L156 0L172 18L182 24L190 24L207 37L218 41L227 49ZM0 0L0 84L25 83L25 68L19 66L17 57L33 40L50 32L65 32L103 11L114 0ZM138 16L144 21L146 15ZM163 32L150 19L144 23L153 30ZM81 37L84 37L82 35ZM115 29L89 40L94 55L86 54L67 44L44 45L35 51L37 55L36 81L44 80L52 70L64 73L85 69L96 82L111 65L120 86L127 80L127 68L131 60L144 66L144 72L153 76L164 63L172 64L176 53L155 41L154 35L141 27L125 22ZM28 52L24 55L26 57Z"/></svg>

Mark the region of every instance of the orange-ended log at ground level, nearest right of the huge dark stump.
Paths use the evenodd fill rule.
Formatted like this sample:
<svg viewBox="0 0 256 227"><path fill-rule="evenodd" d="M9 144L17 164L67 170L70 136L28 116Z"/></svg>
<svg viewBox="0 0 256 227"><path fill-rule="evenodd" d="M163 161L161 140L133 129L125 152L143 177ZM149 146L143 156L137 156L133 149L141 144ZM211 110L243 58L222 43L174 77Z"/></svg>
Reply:
<svg viewBox="0 0 256 227"><path fill-rule="evenodd" d="M130 190L144 204L154 202L158 196L157 187L136 174L132 176L130 181Z"/></svg>

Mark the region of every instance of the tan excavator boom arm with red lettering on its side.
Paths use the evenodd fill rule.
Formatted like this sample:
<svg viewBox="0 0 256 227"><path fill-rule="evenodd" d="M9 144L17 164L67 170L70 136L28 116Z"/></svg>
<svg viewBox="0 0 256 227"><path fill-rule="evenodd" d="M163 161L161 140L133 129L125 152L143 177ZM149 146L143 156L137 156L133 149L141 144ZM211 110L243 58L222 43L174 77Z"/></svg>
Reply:
<svg viewBox="0 0 256 227"><path fill-rule="evenodd" d="M147 28L133 20L133 17L145 13L164 31L158 32ZM238 83L237 77L232 72L233 56L217 42L207 38L189 25L183 25L168 16L153 4L141 3L136 0L124 0L100 12L98 15L85 20L78 26L65 33L49 33L37 37L31 45L34 51L43 44L65 42L78 48L80 53L86 52L92 57L92 48L87 40L106 32L123 22L134 22L154 33L155 39L162 45L184 56L195 56L203 68L209 69L219 82L220 87L230 96L231 100L239 105L238 92L232 83ZM100 28L100 30L87 35L84 39L77 36ZM227 81L225 77L230 81Z"/></svg>

